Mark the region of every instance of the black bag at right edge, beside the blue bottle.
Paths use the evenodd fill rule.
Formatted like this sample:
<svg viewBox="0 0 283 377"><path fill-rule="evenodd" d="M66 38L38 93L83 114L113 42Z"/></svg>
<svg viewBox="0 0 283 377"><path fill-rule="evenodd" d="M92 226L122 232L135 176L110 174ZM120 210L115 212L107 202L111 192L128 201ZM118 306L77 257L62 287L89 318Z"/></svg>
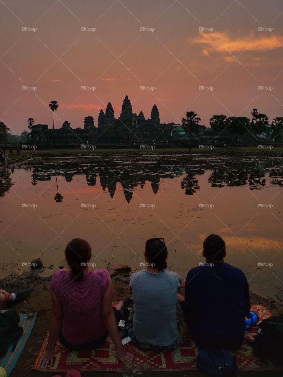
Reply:
<svg viewBox="0 0 283 377"><path fill-rule="evenodd" d="M283 355L283 314L264 319L258 327L261 332L255 336L254 352L259 357L281 361Z"/></svg>

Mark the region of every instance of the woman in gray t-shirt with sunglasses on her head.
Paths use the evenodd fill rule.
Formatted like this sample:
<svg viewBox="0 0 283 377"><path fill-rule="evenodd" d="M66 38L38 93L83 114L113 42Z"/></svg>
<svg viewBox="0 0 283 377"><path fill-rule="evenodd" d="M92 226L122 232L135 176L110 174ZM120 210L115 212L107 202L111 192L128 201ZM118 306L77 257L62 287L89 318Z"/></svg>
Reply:
<svg viewBox="0 0 283 377"><path fill-rule="evenodd" d="M186 340L186 325L178 305L180 276L166 271L168 251L163 238L150 238L145 244L144 270L130 278L134 301L129 320L129 334L138 342L138 348L173 349Z"/></svg>

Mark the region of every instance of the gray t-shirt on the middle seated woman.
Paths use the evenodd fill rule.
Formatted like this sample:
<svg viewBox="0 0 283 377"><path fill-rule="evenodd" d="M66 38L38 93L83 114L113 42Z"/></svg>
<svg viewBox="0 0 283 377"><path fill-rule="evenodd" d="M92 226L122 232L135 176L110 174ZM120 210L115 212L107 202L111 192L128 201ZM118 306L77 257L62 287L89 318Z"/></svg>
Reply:
<svg viewBox="0 0 283 377"><path fill-rule="evenodd" d="M147 270L131 275L130 285L134 301L134 334L141 343L169 346L178 337L176 303L180 276L163 270Z"/></svg>

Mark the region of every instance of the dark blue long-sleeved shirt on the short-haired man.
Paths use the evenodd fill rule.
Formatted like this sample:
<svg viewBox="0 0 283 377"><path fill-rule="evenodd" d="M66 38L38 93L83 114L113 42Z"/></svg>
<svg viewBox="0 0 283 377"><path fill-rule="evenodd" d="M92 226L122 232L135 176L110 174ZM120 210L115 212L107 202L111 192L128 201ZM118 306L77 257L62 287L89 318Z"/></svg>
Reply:
<svg viewBox="0 0 283 377"><path fill-rule="evenodd" d="M215 263L213 267L198 266L188 272L185 317L193 336L242 337L250 310L249 284L240 268Z"/></svg>

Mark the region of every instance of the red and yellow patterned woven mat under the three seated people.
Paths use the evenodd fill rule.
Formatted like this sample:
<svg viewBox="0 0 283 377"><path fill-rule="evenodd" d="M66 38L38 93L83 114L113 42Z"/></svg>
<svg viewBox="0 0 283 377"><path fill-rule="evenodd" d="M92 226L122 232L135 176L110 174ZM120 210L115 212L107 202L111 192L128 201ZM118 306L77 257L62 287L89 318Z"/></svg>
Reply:
<svg viewBox="0 0 283 377"><path fill-rule="evenodd" d="M271 314L262 305L252 305L252 311L256 312L260 318L260 321L268 318ZM257 331L257 326L253 326L246 337L248 339L254 339L254 334ZM106 371L106 372L122 372L123 364L117 360L115 354L114 344L111 338L108 336L106 341L100 348L90 351L69 351L57 342L55 349L54 365L49 368L39 369L38 362L42 356L47 337L43 342L42 348L38 354L38 357L34 363L32 369L42 370L45 372L66 372L69 369L77 369L79 371ZM135 354L137 357L135 363L137 365L143 362L151 363L152 370L156 372L161 371L184 371L195 370L197 360L197 347L195 346L193 339L188 339L179 348L172 351L152 351L142 352L136 348L132 343L126 345L127 351ZM269 360L259 360L252 353L252 347L246 342L243 346L233 355L236 357L238 366L241 371L245 370L281 370L280 366L274 365Z"/></svg>

